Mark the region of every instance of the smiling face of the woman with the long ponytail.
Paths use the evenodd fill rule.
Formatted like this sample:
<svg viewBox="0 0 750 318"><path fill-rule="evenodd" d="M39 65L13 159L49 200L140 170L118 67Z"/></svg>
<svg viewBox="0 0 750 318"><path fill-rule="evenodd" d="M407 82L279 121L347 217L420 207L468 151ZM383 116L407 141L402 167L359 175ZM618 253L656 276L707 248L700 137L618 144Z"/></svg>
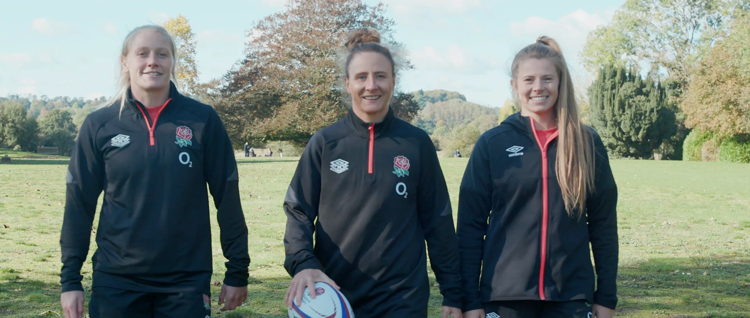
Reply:
<svg viewBox="0 0 750 318"><path fill-rule="evenodd" d="M521 115L544 115L554 110L559 90L559 75L549 59L527 58L518 64L511 86L518 95Z"/></svg>

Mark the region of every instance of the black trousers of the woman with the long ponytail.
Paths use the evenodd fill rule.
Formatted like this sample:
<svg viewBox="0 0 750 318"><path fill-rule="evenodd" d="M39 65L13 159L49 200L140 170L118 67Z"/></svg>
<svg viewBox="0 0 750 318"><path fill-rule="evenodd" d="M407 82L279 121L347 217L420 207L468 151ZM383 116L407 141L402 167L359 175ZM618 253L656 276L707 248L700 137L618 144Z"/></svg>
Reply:
<svg viewBox="0 0 750 318"><path fill-rule="evenodd" d="M520 300L484 303L486 318L591 318L591 303L586 300L545 302Z"/></svg>

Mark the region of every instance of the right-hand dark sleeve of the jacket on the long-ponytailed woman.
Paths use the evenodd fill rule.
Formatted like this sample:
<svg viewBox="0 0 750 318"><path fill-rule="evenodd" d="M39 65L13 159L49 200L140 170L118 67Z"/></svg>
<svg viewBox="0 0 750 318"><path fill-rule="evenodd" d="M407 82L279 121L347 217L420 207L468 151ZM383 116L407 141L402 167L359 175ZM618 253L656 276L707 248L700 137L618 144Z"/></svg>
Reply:
<svg viewBox="0 0 750 318"><path fill-rule="evenodd" d="M594 303L614 309L617 305L617 186L610 169L607 149L594 134L594 193L586 200L589 240L594 254L596 291Z"/></svg>

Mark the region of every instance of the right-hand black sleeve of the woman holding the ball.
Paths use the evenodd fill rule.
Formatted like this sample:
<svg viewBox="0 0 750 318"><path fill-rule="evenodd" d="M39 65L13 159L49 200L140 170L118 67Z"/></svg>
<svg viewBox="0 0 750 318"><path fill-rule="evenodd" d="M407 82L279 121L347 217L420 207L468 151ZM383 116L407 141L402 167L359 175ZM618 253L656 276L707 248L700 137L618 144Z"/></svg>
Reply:
<svg viewBox="0 0 750 318"><path fill-rule="evenodd" d="M451 199L435 146L428 136L425 135L425 139L427 142L420 147L419 221L427 240L432 270L443 294L443 305L461 308L463 291Z"/></svg>

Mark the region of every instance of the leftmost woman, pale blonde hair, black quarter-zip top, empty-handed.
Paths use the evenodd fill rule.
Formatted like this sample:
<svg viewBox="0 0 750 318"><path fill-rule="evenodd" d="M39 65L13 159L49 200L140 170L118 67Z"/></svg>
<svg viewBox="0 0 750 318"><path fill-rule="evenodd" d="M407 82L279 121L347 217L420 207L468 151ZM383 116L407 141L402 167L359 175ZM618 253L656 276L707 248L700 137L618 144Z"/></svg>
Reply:
<svg viewBox="0 0 750 318"><path fill-rule="evenodd" d="M81 266L103 190L91 318L211 316L214 218L207 183L229 260L220 310L234 310L248 298L248 227L232 142L212 107L178 91L175 52L161 26L130 31L115 98L80 128L60 237L65 318L83 314Z"/></svg>

